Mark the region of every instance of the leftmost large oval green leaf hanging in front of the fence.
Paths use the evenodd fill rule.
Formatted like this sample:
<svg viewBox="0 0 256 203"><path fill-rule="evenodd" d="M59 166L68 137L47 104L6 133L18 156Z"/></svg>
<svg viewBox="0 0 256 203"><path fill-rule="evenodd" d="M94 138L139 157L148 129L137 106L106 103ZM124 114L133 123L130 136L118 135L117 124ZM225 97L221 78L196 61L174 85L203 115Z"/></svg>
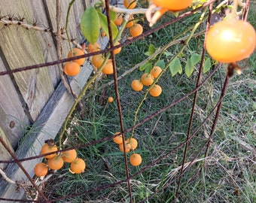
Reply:
<svg viewBox="0 0 256 203"><path fill-rule="evenodd" d="M91 44L99 38L99 15L95 8L89 7L81 17L81 32Z"/></svg>

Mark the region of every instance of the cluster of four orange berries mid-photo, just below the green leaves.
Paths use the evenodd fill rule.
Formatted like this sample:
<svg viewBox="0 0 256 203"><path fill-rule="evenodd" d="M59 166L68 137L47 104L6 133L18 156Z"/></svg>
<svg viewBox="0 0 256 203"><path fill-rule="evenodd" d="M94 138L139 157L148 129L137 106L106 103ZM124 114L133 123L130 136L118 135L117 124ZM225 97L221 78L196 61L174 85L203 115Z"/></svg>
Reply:
<svg viewBox="0 0 256 203"><path fill-rule="evenodd" d="M151 86L151 84L154 82L154 79L159 76L159 74L162 72L162 68L159 66L154 66L151 69L151 73L145 73L142 74L142 77L140 80L136 79L133 80L131 83L132 89L134 91L141 91L143 89L143 86ZM162 87L158 84L154 84L154 86L151 86L151 89L149 89L149 94L151 96L157 97L162 93Z"/></svg>

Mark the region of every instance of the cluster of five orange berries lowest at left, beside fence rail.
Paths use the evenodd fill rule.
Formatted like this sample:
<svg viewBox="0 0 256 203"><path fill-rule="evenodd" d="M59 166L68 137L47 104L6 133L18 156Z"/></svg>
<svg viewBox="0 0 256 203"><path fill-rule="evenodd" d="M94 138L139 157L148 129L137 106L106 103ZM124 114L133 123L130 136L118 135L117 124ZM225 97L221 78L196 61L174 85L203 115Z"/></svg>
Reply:
<svg viewBox="0 0 256 203"><path fill-rule="evenodd" d="M47 163L38 162L35 165L34 172L36 176L45 176L49 168L54 171L59 170L64 165L64 162L70 163L69 171L72 174L81 174L84 172L86 164L83 159L78 158L75 149L66 150L62 153L57 153L57 151L58 147L56 147L53 140L45 141L45 144L41 147L41 154L56 153L44 156L44 158L47 159Z"/></svg>

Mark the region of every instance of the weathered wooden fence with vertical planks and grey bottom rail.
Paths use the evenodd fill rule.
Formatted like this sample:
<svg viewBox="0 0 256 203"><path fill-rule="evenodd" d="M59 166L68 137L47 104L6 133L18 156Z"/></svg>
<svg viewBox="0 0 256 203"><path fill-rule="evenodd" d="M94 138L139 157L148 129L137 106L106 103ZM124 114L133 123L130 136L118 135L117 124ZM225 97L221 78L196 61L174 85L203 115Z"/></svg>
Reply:
<svg viewBox="0 0 256 203"><path fill-rule="evenodd" d="M0 71L53 62L57 57L56 4L52 0L1 0L0 1ZM59 1L64 28L69 0ZM84 41L79 29L81 15L94 0L77 0L69 14L69 35L76 42ZM41 30L37 30L40 28ZM65 32L62 33L65 35ZM61 41L62 58L66 58L69 43ZM61 67L61 66L60 66ZM69 78L72 90L79 94L93 68L85 62L81 73ZM58 65L0 75L0 168L12 180L27 179L17 163L5 164L13 159L8 147L18 159L39 154L44 140L55 138L68 114L73 96L66 91L60 79ZM30 126L30 127L29 127ZM40 159L21 162L30 176ZM22 198L23 191L15 192L13 185L0 177L2 198Z"/></svg>

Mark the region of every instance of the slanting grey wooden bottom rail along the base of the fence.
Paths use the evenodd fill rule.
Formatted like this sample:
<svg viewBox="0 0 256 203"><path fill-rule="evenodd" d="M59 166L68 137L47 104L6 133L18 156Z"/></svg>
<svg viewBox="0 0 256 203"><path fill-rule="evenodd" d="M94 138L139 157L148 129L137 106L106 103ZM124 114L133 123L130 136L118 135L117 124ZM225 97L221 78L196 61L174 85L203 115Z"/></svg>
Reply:
<svg viewBox="0 0 256 203"><path fill-rule="evenodd" d="M92 71L93 67L90 66L89 63L86 63L84 67L81 68L81 73L71 80L71 86L74 92L81 92L81 88L87 82ZM31 132L29 132L20 143L16 151L18 159L38 155L44 141L55 138L73 103L73 96L66 92L66 88L60 83L32 126ZM41 159L32 159L22 163L29 175L33 176L33 168L37 162L41 162ZM6 168L6 173L12 180L27 180L25 174L23 174L23 171L21 171L17 164L9 164ZM0 185L0 196L2 198L23 197L24 192L22 189L20 192L14 192L14 186L6 183L6 181L1 178Z"/></svg>

